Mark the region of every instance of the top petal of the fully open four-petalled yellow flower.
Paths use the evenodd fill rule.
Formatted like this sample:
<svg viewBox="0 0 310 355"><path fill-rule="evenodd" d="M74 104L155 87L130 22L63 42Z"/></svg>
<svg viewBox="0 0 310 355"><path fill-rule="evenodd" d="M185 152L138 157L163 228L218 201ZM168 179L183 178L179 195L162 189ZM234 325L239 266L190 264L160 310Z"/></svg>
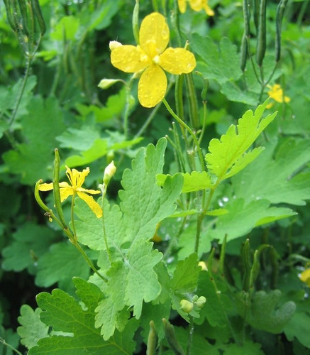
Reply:
<svg viewBox="0 0 310 355"><path fill-rule="evenodd" d="M139 32L140 46L151 59L165 50L169 36L169 27L162 14L153 12L143 19Z"/></svg>

